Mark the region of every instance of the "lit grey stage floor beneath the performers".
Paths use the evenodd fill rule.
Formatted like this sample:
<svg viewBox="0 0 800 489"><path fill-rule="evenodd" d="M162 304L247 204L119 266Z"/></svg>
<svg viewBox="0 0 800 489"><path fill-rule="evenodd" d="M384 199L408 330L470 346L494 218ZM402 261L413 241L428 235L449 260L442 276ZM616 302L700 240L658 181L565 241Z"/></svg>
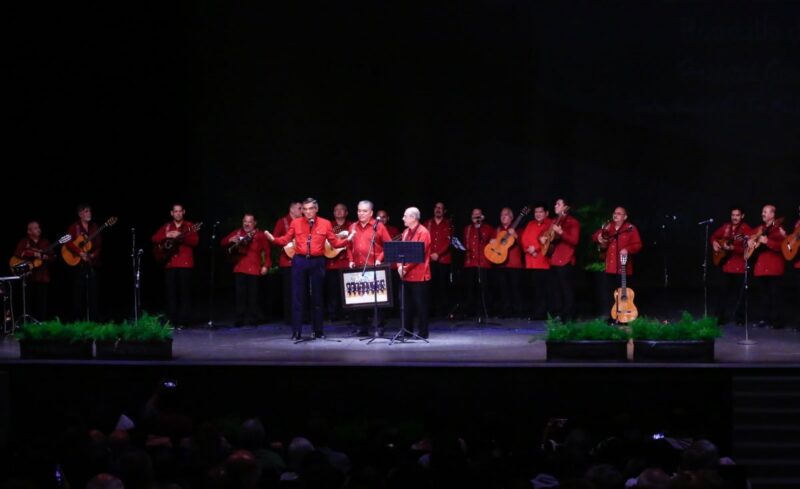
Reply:
<svg viewBox="0 0 800 489"><path fill-rule="evenodd" d="M421 340L395 342L389 340L397 332L398 320L392 320L385 334L368 344L353 335L345 323L327 324L328 340L295 344L290 340L291 328L284 324L266 324L216 329L188 328L175 331L174 360L179 364L222 365L337 365L337 366L482 366L482 367L571 367L585 362L547 362L542 340L545 325L541 321L500 320L497 325L468 322L435 322L431 325L429 343ZM686 364L693 367L758 367L800 366L800 333L792 329L750 329L750 338L757 343L739 345L744 339L742 326L726 325L724 336L716 342L714 363ZM304 334L310 328L304 327ZM48 361L50 363L51 361ZM54 363L107 363L90 361L52 361ZM0 363L42 363L19 360L17 341L6 336L0 339ZM121 362L110 362L121 363ZM158 363L158 362L123 362ZM664 367L679 364L591 363L608 367Z"/></svg>

